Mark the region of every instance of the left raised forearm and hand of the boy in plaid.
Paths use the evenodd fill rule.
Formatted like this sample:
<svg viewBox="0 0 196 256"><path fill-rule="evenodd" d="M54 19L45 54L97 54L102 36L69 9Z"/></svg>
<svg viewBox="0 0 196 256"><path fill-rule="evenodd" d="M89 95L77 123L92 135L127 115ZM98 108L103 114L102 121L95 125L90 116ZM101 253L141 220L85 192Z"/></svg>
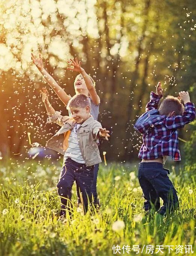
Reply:
<svg viewBox="0 0 196 256"><path fill-rule="evenodd" d="M162 91L163 91L162 86L161 86L161 83L159 82L157 84L156 93L154 92L150 93L150 102L148 102L146 105L146 112L149 110L158 108L159 101L163 96Z"/></svg>

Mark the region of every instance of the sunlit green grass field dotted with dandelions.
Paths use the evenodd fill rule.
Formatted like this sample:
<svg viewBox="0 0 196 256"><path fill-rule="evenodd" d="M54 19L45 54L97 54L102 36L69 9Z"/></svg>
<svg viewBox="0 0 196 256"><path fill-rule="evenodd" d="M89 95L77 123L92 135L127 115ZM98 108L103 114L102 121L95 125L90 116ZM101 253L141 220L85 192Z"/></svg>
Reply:
<svg viewBox="0 0 196 256"><path fill-rule="evenodd" d="M196 182L188 172L172 168L180 209L161 226L156 217L141 221L137 166L122 164L100 166L99 212L84 215L77 208L74 186L73 217L60 221L60 163L12 161L0 165L0 255L196 254Z"/></svg>

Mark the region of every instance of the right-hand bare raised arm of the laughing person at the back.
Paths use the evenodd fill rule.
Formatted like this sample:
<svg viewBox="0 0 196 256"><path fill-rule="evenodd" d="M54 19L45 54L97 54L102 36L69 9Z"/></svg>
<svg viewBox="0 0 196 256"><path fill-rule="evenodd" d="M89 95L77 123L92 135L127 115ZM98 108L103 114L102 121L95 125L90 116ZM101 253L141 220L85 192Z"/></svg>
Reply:
<svg viewBox="0 0 196 256"><path fill-rule="evenodd" d="M70 68L70 67L67 67L68 70L71 70L71 71L76 71L76 72L79 72L82 77L84 78L84 81L85 81L85 84L87 86L87 89L88 89L88 92L91 96L91 99L93 101L93 103L95 105L99 105L100 103L100 98L99 96L97 95L97 92L96 92L96 89L94 87L94 84L93 84L93 80L90 78L90 76L86 73L86 71L84 70L84 68L81 67L81 62L79 61L78 62L78 59L75 58L75 60L73 59L70 59L70 61L67 61L70 65L72 65L73 67Z"/></svg>

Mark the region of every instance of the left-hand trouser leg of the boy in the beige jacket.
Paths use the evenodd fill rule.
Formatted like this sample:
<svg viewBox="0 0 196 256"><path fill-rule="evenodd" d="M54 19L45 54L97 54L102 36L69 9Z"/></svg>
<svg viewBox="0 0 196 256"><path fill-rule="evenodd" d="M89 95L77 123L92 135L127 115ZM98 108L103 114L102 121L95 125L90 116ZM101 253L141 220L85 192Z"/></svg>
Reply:
<svg viewBox="0 0 196 256"><path fill-rule="evenodd" d="M72 208L71 198L72 198L72 186L75 181L75 174L73 167L70 163L70 158L64 163L63 168L61 169L60 177L58 180L57 188L58 195L61 199L61 211L60 215L64 215L66 213L65 209Z"/></svg>

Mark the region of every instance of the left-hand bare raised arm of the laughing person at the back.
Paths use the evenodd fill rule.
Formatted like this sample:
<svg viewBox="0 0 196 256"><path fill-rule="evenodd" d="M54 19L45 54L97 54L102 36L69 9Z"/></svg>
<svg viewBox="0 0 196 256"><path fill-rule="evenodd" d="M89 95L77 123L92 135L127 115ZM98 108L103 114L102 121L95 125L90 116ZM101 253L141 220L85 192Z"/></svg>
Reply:
<svg viewBox="0 0 196 256"><path fill-rule="evenodd" d="M39 71L43 75L44 79L49 84L49 86L52 87L52 89L58 95L58 97L61 99L61 101L65 105L67 105L68 101L72 97L67 95L67 93L57 84L57 82L54 80L54 78L51 75L49 75L48 72L44 69L41 55L39 54L39 59L38 59L34 56L33 53L31 53L31 59L33 60L33 63L39 69Z"/></svg>

